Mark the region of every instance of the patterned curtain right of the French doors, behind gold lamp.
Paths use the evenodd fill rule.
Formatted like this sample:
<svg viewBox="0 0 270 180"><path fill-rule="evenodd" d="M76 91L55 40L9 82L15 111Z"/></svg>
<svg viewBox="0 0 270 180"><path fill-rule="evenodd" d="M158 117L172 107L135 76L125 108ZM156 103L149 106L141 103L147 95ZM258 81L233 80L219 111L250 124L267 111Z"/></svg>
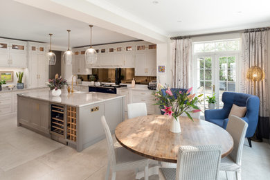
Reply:
<svg viewBox="0 0 270 180"><path fill-rule="evenodd" d="M246 71L251 66L260 66L265 72L265 79L256 83L257 96L260 98L260 113L256 136L258 138L269 138L269 89L268 89L268 59L267 59L267 34L268 30L251 30L242 35L242 77L240 80L240 91L242 93L254 94L253 82L246 80Z"/></svg>

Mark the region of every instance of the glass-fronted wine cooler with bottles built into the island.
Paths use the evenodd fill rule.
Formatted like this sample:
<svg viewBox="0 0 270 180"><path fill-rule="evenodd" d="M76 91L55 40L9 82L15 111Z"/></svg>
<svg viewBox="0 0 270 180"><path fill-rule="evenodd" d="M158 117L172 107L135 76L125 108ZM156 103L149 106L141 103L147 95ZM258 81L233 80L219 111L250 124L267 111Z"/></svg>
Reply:
<svg viewBox="0 0 270 180"><path fill-rule="evenodd" d="M64 136L64 107L51 105L51 132Z"/></svg>

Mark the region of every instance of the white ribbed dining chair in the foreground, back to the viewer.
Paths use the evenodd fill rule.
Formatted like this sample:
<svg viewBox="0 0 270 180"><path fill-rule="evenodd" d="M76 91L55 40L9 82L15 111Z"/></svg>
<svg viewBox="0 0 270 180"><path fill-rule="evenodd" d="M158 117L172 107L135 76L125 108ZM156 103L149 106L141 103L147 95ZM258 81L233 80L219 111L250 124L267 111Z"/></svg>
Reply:
<svg viewBox="0 0 270 180"><path fill-rule="evenodd" d="M160 168L161 180L218 179L222 145L183 145L179 147L177 168Z"/></svg>

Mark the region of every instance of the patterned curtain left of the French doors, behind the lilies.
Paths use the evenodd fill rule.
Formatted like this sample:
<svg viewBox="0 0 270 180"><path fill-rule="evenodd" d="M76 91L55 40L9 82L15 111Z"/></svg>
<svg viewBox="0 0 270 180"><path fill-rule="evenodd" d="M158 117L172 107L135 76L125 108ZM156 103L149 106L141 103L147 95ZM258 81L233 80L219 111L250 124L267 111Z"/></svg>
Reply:
<svg viewBox="0 0 270 180"><path fill-rule="evenodd" d="M174 88L190 88L192 86L192 40L173 40L173 81Z"/></svg>

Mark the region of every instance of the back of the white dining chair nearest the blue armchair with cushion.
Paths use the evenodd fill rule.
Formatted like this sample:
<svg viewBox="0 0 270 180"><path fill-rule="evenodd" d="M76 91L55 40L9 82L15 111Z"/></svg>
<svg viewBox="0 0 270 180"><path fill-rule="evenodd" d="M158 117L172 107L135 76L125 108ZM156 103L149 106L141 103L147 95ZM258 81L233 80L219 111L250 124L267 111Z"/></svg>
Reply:
<svg viewBox="0 0 270 180"><path fill-rule="evenodd" d="M249 125L242 120L242 118L238 118L234 115L228 117L226 130L233 137L233 151L229 156L239 165L241 165L244 137L248 126Z"/></svg>

